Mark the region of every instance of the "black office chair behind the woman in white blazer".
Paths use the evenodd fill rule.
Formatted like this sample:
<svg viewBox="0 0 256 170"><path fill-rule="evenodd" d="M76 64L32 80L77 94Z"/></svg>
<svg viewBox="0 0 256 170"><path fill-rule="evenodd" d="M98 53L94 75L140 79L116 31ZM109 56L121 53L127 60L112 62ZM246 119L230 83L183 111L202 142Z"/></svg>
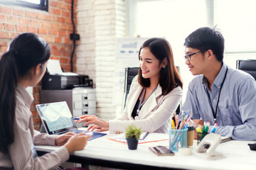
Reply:
<svg viewBox="0 0 256 170"><path fill-rule="evenodd" d="M179 67L176 66L179 72ZM123 104L122 104L122 110L124 110L125 103L127 96L129 94L129 89L132 84L132 79L138 74L139 72L139 67L126 67L125 68L125 75L124 75L124 98L123 98ZM181 104L178 105L178 108L176 109L176 114L180 113L180 107Z"/></svg>

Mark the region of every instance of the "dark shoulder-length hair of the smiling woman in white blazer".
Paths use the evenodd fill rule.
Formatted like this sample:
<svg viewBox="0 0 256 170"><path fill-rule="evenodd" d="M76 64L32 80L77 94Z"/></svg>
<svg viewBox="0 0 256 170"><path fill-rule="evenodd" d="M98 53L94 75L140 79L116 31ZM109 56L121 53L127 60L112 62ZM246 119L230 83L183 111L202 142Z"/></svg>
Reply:
<svg viewBox="0 0 256 170"><path fill-rule="evenodd" d="M162 94L169 94L169 92L177 86L181 86L182 88L183 83L174 65L174 55L169 42L163 38L151 38L146 40L139 49L139 56L142 48L145 47L148 47L154 57L159 60L159 66L164 58L167 60L165 68L162 67L160 70L159 84L162 88ZM141 86L150 86L150 80L142 77L142 69L139 69L138 77Z"/></svg>

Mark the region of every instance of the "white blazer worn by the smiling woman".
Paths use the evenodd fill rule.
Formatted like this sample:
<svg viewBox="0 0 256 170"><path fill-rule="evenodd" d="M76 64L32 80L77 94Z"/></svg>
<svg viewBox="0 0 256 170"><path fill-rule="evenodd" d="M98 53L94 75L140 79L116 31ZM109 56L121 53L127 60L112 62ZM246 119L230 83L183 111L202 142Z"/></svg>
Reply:
<svg viewBox="0 0 256 170"><path fill-rule="evenodd" d="M169 94L163 96L161 86L158 85L139 111L139 120L134 120L132 111L142 89L143 87L139 84L137 76L134 77L124 112L119 118L109 121L110 133L125 132L127 125L132 124L136 125L137 128L141 127L142 132L168 132L170 118L173 117L178 104L181 103L181 87L178 86L170 91Z"/></svg>

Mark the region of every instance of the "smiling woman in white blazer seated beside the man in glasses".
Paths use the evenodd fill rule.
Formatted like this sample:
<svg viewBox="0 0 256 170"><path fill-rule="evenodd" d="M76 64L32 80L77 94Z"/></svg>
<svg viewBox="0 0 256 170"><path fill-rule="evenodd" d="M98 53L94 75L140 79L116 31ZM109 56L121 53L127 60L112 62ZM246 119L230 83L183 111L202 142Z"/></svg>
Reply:
<svg viewBox="0 0 256 170"><path fill-rule="evenodd" d="M168 132L170 118L182 97L182 81L174 64L171 45L162 38L146 40L139 49L139 72L132 81L123 114L105 121L95 115L82 115L80 123L88 130L125 132L127 125L143 132Z"/></svg>

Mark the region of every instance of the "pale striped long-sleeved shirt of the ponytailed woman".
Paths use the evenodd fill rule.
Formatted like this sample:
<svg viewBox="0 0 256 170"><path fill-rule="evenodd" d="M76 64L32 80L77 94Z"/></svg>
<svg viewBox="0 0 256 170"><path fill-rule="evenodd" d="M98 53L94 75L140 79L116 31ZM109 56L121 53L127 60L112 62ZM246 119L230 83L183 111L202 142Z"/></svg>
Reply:
<svg viewBox="0 0 256 170"><path fill-rule="evenodd" d="M30 111L33 97L18 84L16 90L16 112L14 118L14 142L9 154L0 152L0 167L14 169L55 169L68 160L68 149L60 147L49 154L37 157L33 145L55 145L55 135L41 134L33 129Z"/></svg>

